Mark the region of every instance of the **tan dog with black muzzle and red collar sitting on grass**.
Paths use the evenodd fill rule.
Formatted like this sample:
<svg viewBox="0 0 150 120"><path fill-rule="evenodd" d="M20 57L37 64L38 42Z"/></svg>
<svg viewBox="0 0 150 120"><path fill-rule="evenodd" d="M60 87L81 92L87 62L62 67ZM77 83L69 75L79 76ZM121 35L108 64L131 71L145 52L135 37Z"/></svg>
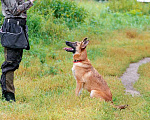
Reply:
<svg viewBox="0 0 150 120"><path fill-rule="evenodd" d="M112 102L111 91L95 68L87 58L86 46L89 40L85 38L82 42L68 42L66 45L71 48L64 48L67 52L73 52L73 74L76 79L76 95L79 96L82 88L90 92L90 97L104 99L105 101ZM115 106L115 108L124 109L126 105Z"/></svg>

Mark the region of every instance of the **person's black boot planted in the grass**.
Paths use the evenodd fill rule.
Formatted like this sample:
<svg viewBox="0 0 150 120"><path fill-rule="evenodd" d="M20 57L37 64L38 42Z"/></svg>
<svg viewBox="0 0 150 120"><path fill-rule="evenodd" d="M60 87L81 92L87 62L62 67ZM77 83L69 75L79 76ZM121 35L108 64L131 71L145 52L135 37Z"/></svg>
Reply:
<svg viewBox="0 0 150 120"><path fill-rule="evenodd" d="M3 93L2 94L2 99L6 100L6 101L9 101L9 102L11 102L11 101L15 102L16 101L15 100L15 94L12 93L12 92Z"/></svg>

